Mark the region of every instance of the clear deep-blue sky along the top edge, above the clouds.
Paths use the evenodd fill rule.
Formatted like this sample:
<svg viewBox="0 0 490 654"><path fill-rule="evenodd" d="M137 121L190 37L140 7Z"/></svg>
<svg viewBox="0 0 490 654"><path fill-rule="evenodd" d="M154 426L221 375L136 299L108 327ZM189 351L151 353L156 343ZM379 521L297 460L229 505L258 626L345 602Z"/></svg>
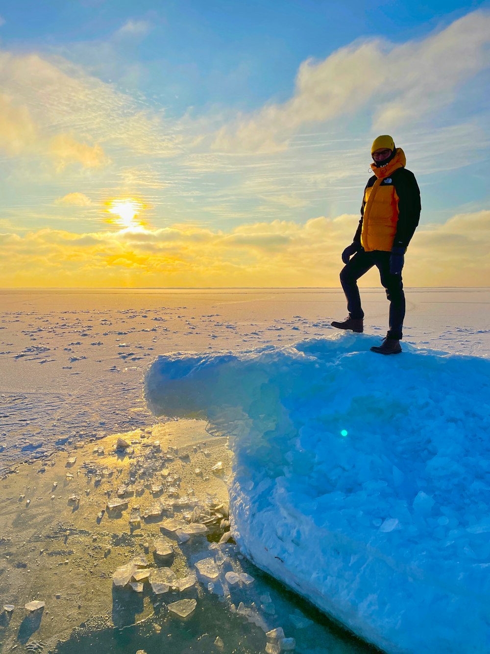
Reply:
<svg viewBox="0 0 490 654"><path fill-rule="evenodd" d="M293 91L297 68L308 58L326 58L366 37L394 43L419 39L470 10L489 6L387 0L20 1L1 13L6 22L2 43L47 53L85 46L75 58L99 69L105 81L124 85L124 78L106 74L108 62L93 60L97 49L91 53L90 45L111 39L128 22L146 24L144 38L115 45L118 60L144 67L139 90L163 99L177 116L189 106L197 112L216 103L251 110L271 99L284 101Z"/></svg>

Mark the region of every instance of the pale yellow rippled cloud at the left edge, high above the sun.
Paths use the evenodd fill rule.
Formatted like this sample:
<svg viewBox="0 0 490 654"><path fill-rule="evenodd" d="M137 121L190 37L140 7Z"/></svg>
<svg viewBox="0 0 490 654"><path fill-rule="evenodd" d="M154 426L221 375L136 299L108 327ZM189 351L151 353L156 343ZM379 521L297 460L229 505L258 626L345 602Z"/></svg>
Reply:
<svg viewBox="0 0 490 654"><path fill-rule="evenodd" d="M99 167L107 148L173 156L182 135L161 112L116 90L62 57L0 51L0 145L10 156L35 150L59 162ZM10 135L11 134L11 135ZM46 145L47 144L47 145Z"/></svg>

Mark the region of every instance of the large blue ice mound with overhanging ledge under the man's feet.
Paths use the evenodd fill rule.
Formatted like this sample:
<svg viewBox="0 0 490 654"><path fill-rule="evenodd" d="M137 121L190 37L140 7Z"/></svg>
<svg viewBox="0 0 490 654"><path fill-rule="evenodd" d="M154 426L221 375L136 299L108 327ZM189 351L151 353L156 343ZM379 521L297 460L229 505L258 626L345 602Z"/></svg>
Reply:
<svg viewBox="0 0 490 654"><path fill-rule="evenodd" d="M146 400L230 436L259 568L389 653L490 651L490 360L375 343L167 354Z"/></svg>

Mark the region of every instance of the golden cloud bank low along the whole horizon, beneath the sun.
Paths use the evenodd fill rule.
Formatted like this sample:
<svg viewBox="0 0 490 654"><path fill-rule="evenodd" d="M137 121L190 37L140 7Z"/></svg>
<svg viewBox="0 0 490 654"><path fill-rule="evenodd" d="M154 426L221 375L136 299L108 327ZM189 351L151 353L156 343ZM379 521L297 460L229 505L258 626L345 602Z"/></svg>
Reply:
<svg viewBox="0 0 490 654"><path fill-rule="evenodd" d="M5 286L335 286L357 215L241 225L226 232L174 225L159 230L0 233ZM406 286L475 286L490 279L490 211L417 230ZM361 280L377 286L376 269Z"/></svg>

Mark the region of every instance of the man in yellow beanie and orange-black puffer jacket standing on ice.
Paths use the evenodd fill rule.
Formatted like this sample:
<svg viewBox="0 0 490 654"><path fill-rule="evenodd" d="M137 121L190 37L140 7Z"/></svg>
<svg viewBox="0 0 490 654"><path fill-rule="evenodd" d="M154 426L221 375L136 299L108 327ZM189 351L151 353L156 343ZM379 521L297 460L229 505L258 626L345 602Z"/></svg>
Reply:
<svg viewBox="0 0 490 654"><path fill-rule="evenodd" d="M414 173L405 168L403 150L395 147L391 136L374 139L371 156L374 175L364 190L359 227L353 243L342 252L346 265L340 272L340 283L349 315L344 322L332 322L332 326L363 332L364 311L357 280L376 266L389 300L389 330L382 345L371 350L399 354L405 317L402 268L408 243L419 224L420 191Z"/></svg>

